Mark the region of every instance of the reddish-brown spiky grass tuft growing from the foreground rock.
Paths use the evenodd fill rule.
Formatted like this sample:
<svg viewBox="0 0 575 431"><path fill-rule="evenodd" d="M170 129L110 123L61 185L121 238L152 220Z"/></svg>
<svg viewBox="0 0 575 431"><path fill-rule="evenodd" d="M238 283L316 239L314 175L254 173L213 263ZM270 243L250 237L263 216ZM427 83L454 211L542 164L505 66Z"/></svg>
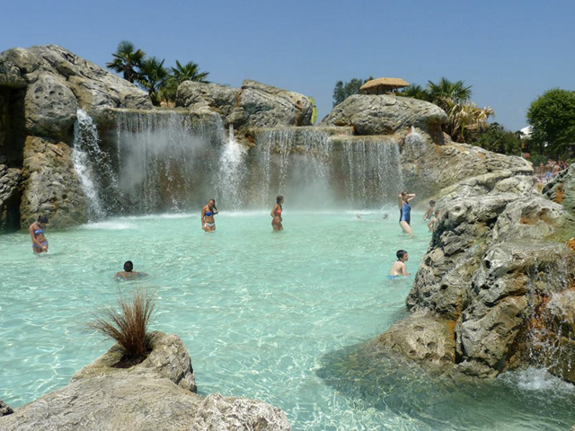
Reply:
<svg viewBox="0 0 575 431"><path fill-rule="evenodd" d="M148 331L155 314L155 299L146 291L136 289L131 297L119 296L119 310L105 308L96 314L88 328L115 340L124 350L122 361L137 364L152 350Z"/></svg>

